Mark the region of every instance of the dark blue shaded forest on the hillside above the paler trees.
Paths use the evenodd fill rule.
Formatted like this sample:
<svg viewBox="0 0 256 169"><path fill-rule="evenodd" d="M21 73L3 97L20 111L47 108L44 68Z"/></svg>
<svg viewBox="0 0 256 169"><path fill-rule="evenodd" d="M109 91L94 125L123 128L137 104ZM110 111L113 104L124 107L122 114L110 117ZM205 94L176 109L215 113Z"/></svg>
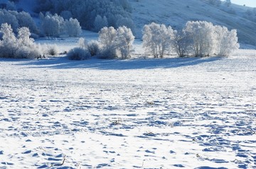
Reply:
<svg viewBox="0 0 256 169"><path fill-rule="evenodd" d="M132 7L128 0L37 0L35 11L58 13L65 19L77 18L82 28L99 31L105 26L122 25L134 29ZM92 24L94 23L94 24Z"/></svg>

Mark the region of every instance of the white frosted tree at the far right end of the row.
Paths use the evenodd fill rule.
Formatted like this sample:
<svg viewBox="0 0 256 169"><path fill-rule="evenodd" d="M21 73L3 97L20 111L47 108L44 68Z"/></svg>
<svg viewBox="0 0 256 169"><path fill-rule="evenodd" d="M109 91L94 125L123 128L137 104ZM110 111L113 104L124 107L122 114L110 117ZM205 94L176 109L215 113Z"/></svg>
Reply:
<svg viewBox="0 0 256 169"><path fill-rule="evenodd" d="M216 54L218 56L228 57L239 48L238 36L236 30L228 30L220 25L215 26L216 34Z"/></svg>

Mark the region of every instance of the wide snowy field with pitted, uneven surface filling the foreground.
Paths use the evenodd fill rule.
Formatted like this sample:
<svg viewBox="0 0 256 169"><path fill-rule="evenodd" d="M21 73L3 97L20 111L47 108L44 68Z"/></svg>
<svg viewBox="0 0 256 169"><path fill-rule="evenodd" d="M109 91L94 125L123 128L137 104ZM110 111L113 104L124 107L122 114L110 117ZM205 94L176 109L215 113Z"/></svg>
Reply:
<svg viewBox="0 0 256 169"><path fill-rule="evenodd" d="M0 59L0 168L256 168L256 51Z"/></svg>

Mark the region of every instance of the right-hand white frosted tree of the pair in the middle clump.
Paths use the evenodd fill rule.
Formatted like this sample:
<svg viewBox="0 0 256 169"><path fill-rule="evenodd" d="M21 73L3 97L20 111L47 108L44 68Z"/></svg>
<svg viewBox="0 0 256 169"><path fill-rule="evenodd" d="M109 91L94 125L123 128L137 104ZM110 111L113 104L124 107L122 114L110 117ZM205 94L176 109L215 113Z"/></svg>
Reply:
<svg viewBox="0 0 256 169"><path fill-rule="evenodd" d="M134 35L132 34L132 30L130 28L122 26L117 29L115 45L121 54L121 59L128 59L131 57L133 42Z"/></svg>

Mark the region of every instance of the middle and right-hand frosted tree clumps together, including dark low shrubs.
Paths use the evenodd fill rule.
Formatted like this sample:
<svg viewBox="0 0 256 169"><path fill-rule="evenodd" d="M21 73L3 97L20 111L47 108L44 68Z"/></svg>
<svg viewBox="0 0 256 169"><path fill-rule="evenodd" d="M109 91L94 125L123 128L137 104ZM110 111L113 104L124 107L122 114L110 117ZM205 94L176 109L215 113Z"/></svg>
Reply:
<svg viewBox="0 0 256 169"><path fill-rule="evenodd" d="M145 53L154 58L174 52L178 57L228 57L239 48L236 30L206 21L188 21L181 31L164 24L144 25L142 40ZM68 57L88 59L97 55L102 59L129 59L134 51L133 42L132 30L126 26L105 27L100 30L98 41L80 39L80 47L72 49Z"/></svg>

